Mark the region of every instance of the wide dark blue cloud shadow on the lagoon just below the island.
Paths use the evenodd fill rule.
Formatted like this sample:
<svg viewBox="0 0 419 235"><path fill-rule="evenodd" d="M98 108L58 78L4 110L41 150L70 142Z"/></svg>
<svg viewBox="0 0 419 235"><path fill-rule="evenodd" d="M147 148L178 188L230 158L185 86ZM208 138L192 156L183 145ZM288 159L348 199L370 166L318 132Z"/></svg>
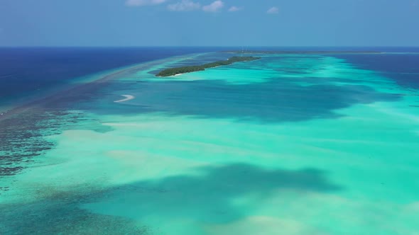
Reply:
<svg viewBox="0 0 419 235"><path fill-rule="evenodd" d="M101 114L163 112L202 118L299 122L341 117L336 110L400 98L369 86L300 86L278 80L257 84L229 84L220 80L142 82L132 91L136 99L102 109L92 107L92 110Z"/></svg>

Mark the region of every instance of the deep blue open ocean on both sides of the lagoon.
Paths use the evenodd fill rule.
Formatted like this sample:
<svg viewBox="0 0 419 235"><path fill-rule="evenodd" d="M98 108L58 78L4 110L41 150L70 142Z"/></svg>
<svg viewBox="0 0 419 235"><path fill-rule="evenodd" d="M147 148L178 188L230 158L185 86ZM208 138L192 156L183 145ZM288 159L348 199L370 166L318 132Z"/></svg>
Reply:
<svg viewBox="0 0 419 235"><path fill-rule="evenodd" d="M418 47L247 47L247 50L419 52ZM176 55L241 47L0 48L0 106L66 84L76 77ZM419 87L419 55L338 55Z"/></svg>

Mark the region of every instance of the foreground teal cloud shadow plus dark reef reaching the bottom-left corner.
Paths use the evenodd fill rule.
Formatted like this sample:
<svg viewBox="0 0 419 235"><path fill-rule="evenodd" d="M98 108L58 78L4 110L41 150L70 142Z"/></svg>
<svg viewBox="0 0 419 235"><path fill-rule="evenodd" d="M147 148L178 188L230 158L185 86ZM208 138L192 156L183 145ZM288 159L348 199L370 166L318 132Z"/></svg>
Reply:
<svg viewBox="0 0 419 235"><path fill-rule="evenodd" d="M141 180L107 190L79 188L65 193L55 188L39 190L48 193L48 197L1 206L4 220L0 227L12 234L30 231L48 234L63 231L60 228L80 234L94 228L111 234L130 229L135 229L134 234L153 234L156 228L147 224L137 227L134 221L158 217L166 222L176 219L232 222L246 217L273 193L281 194L285 190L300 195L333 193L343 188L331 183L324 171L315 168L284 170L229 164L197 168L196 176ZM237 203L238 200L242 202Z"/></svg>

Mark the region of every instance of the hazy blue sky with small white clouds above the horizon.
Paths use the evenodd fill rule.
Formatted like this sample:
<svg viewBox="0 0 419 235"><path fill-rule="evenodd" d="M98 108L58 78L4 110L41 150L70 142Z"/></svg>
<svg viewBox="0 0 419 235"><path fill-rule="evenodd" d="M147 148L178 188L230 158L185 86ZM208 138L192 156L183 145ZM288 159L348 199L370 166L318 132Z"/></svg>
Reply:
<svg viewBox="0 0 419 235"><path fill-rule="evenodd" d="M0 0L0 46L419 46L419 0Z"/></svg>

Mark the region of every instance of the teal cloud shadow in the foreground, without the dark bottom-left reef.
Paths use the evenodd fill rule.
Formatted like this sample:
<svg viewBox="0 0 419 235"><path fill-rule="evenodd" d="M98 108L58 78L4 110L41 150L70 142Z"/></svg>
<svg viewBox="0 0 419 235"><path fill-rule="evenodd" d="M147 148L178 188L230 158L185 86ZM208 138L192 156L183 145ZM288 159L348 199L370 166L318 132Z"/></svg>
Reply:
<svg viewBox="0 0 419 235"><path fill-rule="evenodd" d="M99 197L98 202L87 204L87 209L131 219L158 214L162 218L184 217L219 223L240 219L255 206L252 204L255 199L263 202L285 190L303 195L343 189L327 180L324 171L315 168L283 170L231 164L202 167L198 173L197 176L170 176L112 188ZM253 202L235 203L249 197Z"/></svg>

